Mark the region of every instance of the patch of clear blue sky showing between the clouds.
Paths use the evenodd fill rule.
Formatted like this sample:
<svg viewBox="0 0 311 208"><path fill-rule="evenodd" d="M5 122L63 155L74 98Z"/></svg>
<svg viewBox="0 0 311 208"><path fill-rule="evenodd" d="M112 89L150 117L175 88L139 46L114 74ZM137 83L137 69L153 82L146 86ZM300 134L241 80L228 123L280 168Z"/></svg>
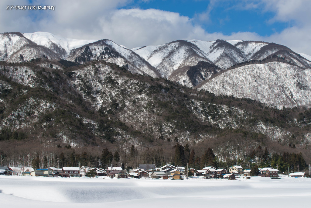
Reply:
<svg viewBox="0 0 311 208"><path fill-rule="evenodd" d="M240 4L239 4L240 3ZM207 0L158 0L158 1L133 1L122 7L124 9L159 9L177 12L189 17L194 24L199 24L210 33L221 32L231 35L233 32L256 32L258 35L267 36L283 31L291 22L270 22L275 12L262 11L258 8L243 9L241 1L224 1L211 3ZM210 11L209 11L210 9ZM205 19L198 16L209 11Z"/></svg>

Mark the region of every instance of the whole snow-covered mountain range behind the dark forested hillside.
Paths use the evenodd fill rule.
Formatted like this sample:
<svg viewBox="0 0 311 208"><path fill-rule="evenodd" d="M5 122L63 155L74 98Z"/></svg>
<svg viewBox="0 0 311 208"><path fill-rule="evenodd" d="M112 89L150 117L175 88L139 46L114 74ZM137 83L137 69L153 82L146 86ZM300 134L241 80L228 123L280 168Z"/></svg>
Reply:
<svg viewBox="0 0 311 208"><path fill-rule="evenodd" d="M215 94L277 106L311 106L311 56L262 41L176 40L128 49L112 40L75 40L47 32L0 35L0 60L104 60L132 73L163 77Z"/></svg>

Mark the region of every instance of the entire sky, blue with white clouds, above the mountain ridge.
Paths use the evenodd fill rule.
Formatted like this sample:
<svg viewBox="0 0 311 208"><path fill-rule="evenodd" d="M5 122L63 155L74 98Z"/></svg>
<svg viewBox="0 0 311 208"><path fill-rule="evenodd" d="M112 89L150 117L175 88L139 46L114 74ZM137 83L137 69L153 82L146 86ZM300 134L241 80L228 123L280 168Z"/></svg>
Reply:
<svg viewBox="0 0 311 208"><path fill-rule="evenodd" d="M55 11L7 11L53 5ZM258 40L311 54L310 0L2 0L0 32L110 39L128 48L173 40Z"/></svg>

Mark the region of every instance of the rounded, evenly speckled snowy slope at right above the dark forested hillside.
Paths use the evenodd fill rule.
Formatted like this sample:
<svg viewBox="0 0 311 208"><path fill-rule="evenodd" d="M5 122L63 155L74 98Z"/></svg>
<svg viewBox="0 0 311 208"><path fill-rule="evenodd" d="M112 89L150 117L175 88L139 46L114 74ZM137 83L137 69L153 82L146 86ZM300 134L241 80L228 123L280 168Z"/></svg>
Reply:
<svg viewBox="0 0 311 208"><path fill-rule="evenodd" d="M310 81L311 69L269 62L228 70L200 89L217 95L250 98L281 109L283 106L311 106Z"/></svg>

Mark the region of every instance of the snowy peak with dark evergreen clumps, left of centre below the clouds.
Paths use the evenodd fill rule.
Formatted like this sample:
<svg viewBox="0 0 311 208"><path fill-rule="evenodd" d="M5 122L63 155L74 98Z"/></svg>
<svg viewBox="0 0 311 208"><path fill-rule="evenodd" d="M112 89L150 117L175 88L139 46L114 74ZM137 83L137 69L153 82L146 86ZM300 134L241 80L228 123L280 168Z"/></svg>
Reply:
<svg viewBox="0 0 311 208"><path fill-rule="evenodd" d="M72 50L67 60L79 63L90 60L105 60L109 63L128 67L133 73L146 74L152 77L160 76L156 69L146 62L145 59L132 50L107 39Z"/></svg>

